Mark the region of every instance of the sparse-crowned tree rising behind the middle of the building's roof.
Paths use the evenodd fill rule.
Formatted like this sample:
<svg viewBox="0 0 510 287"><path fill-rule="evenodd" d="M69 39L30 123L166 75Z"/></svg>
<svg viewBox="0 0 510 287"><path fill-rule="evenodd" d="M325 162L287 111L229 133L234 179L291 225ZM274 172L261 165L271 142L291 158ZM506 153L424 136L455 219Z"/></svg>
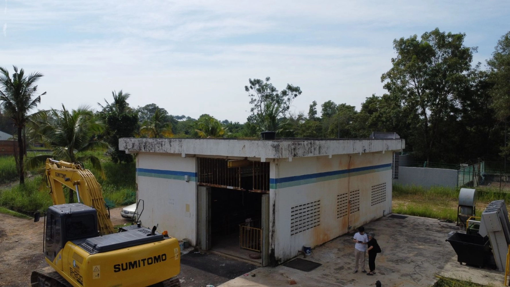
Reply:
<svg viewBox="0 0 510 287"><path fill-rule="evenodd" d="M282 124L278 123L280 118L285 118L289 114L292 101L300 95L301 89L297 86L287 84L287 87L278 92L278 90L269 83L270 77L265 81L260 79L249 79L249 86L244 86L244 90L250 97L251 115L248 120L256 123L261 131L278 132L282 129Z"/></svg>

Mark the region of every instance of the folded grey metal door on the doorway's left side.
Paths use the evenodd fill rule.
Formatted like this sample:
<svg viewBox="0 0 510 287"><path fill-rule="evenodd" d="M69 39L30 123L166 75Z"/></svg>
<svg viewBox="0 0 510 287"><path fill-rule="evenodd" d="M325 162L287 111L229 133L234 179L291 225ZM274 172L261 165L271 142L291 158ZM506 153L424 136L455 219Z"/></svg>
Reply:
<svg viewBox="0 0 510 287"><path fill-rule="evenodd" d="M198 241L200 249L211 248L211 188L198 187Z"/></svg>

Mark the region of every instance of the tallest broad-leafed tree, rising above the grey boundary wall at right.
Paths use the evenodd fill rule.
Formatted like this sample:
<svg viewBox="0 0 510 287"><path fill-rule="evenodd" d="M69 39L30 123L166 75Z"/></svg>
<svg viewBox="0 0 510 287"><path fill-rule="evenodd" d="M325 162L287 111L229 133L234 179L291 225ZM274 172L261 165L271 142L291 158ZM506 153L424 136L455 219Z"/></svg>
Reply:
<svg viewBox="0 0 510 287"><path fill-rule="evenodd" d="M458 105L458 95L469 85L467 72L476 47L466 47L466 34L452 34L435 29L418 39L393 41L397 57L392 68L382 74L381 82L392 95L401 97L403 105L418 110L423 150L429 161L435 149L442 123Z"/></svg>

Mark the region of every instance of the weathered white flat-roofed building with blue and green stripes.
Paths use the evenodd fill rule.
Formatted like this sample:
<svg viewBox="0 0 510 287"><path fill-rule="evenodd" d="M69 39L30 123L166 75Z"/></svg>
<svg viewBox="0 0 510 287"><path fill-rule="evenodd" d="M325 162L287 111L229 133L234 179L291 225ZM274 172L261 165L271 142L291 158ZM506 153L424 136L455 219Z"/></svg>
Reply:
<svg viewBox="0 0 510 287"><path fill-rule="evenodd" d="M144 225L266 266L391 213L392 155L404 145L124 138L119 149L137 154Z"/></svg>

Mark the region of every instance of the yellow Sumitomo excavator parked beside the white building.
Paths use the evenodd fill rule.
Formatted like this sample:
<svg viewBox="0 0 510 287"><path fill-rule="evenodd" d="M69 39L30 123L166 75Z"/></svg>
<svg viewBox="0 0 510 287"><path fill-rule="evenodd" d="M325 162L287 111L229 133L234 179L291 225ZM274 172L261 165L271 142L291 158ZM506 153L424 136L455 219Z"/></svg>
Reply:
<svg viewBox="0 0 510 287"><path fill-rule="evenodd" d="M49 267L32 272L33 287L180 286L179 242L162 233L110 221L101 187L80 163L46 160L53 206L44 220L43 252ZM78 203L65 203L64 189ZM70 191L71 192L71 191ZM34 221L38 221L37 213Z"/></svg>

